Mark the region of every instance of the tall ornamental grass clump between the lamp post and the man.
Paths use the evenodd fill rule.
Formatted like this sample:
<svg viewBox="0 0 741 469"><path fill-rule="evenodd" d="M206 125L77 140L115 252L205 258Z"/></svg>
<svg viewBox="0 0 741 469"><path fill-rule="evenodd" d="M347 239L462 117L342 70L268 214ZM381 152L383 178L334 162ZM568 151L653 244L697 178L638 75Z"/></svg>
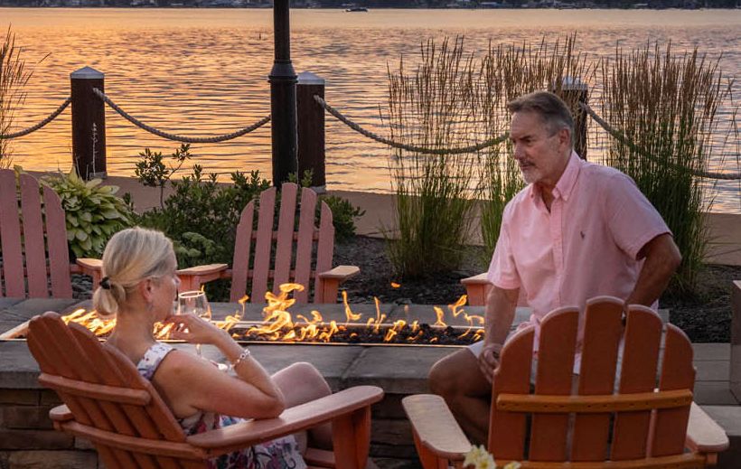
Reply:
<svg viewBox="0 0 741 469"><path fill-rule="evenodd" d="M405 70L403 60L398 71L389 70L391 138L438 149L472 145L481 123L472 112L474 65L464 57L463 39L439 46L430 41L421 52L414 72ZM472 153L394 150L389 170L396 226L384 233L397 275L424 277L458 266L478 191L477 162Z"/></svg>

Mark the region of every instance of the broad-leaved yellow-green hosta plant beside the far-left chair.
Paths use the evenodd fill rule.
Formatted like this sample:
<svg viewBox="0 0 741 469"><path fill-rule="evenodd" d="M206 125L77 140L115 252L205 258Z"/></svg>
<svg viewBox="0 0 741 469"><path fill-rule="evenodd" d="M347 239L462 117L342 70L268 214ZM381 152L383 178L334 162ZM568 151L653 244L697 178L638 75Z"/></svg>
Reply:
<svg viewBox="0 0 741 469"><path fill-rule="evenodd" d="M99 258L114 233L131 226L129 206L117 186L100 179L85 181L74 168L69 174L44 176L41 183L57 192L67 220L67 240L76 258Z"/></svg>

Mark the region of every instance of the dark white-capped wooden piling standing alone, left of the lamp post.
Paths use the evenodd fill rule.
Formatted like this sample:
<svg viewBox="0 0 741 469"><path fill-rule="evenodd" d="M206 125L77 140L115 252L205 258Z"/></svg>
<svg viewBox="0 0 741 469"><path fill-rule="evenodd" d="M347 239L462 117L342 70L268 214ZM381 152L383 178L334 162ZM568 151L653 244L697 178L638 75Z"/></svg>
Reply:
<svg viewBox="0 0 741 469"><path fill-rule="evenodd" d="M105 92L105 75L84 67L70 73L72 98L72 158L78 174L84 179L105 178L106 172L106 103L93 93Z"/></svg>

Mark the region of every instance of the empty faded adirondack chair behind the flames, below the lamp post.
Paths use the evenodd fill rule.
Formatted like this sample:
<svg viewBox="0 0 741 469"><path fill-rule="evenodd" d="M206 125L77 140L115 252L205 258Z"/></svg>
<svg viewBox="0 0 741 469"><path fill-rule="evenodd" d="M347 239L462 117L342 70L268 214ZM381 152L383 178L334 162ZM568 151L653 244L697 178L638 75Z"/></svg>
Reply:
<svg viewBox="0 0 741 469"><path fill-rule="evenodd" d="M181 290L197 290L202 283L230 277L232 302L245 293L249 294L250 301L262 302L267 291L277 294L281 284L296 283L305 286L304 291L295 292L297 303L308 303L312 288L313 303L335 303L340 283L360 269L354 266L332 268L332 211L321 202L321 218L316 228L316 192L303 190L296 220L297 193L295 183L284 183L281 187L277 230L273 230L277 189L273 187L260 193L257 230L253 230L255 202L249 202L239 219L231 269L226 264L184 268L178 271Z"/></svg>

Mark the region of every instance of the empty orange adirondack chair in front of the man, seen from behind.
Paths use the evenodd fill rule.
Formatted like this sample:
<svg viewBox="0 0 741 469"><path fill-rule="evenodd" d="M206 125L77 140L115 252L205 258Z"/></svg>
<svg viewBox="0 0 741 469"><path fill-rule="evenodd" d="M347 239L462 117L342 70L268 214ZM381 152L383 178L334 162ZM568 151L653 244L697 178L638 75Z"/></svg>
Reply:
<svg viewBox="0 0 741 469"><path fill-rule="evenodd" d="M515 334L495 371L488 450L497 464L523 468L705 467L728 446L721 427L692 403L695 370L687 336L666 326L660 379L661 318L631 306L623 334L623 302L601 296L586 307L583 355L573 386L577 309L560 308L540 324L538 371L530 391L535 331ZM618 346L624 338L619 388ZM403 399L426 469L461 467L471 444L439 396ZM529 444L526 419L530 418ZM526 446L529 446L526 453Z"/></svg>

